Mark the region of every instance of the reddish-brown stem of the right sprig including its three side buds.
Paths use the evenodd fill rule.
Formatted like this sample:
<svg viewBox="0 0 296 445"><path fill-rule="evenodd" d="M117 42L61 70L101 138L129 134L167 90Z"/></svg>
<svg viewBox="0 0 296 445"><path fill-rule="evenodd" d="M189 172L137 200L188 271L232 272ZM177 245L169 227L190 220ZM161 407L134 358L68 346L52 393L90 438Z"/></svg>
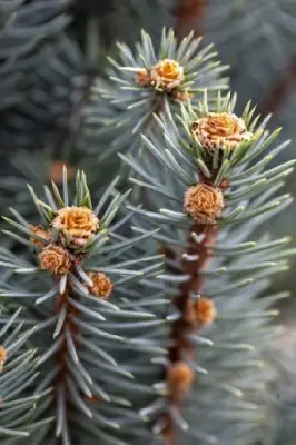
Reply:
<svg viewBox="0 0 296 445"><path fill-rule="evenodd" d="M199 174L199 184L189 187L184 198L184 209L195 222L187 233L187 248L181 251L186 254L186 258L181 259L181 274L187 279L179 286L179 294L174 301L178 318L172 323L170 334L172 346L168 352L169 363L166 369L168 409L162 416L162 434L167 445L177 445L171 409L175 413L181 412L181 402L195 379L195 348L189 335L211 324L216 317L214 301L203 296L203 271L213 257L213 250L208 246L215 245L218 235L216 217L225 206L223 191L230 187L226 179L220 181L219 187L214 186L217 171L213 171L210 180ZM193 233L197 235L197 239L193 238ZM168 259L177 259L169 246L165 247L164 253Z"/></svg>

